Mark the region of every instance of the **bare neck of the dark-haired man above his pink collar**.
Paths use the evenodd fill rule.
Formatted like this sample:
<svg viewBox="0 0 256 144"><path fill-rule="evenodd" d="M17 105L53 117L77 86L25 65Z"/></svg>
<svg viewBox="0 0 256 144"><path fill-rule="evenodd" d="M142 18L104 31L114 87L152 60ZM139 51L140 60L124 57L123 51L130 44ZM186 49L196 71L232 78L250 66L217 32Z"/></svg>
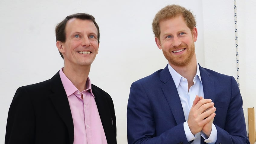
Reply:
<svg viewBox="0 0 256 144"><path fill-rule="evenodd" d="M87 88L86 81L90 72L90 68L91 66L64 66L62 71L79 91L83 91Z"/></svg>

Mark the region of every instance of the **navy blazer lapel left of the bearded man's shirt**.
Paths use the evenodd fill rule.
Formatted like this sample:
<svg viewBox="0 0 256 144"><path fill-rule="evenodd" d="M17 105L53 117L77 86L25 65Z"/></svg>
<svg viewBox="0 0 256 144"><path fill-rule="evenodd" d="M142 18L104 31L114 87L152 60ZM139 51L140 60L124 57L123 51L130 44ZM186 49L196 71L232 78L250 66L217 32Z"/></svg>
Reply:
<svg viewBox="0 0 256 144"><path fill-rule="evenodd" d="M162 72L160 72L160 80L165 83L162 86L162 91L169 104L169 107L171 109L171 112L174 116L176 123L184 123L186 120L181 105L181 100L177 88L169 72L168 65L165 67L165 69L162 70Z"/></svg>

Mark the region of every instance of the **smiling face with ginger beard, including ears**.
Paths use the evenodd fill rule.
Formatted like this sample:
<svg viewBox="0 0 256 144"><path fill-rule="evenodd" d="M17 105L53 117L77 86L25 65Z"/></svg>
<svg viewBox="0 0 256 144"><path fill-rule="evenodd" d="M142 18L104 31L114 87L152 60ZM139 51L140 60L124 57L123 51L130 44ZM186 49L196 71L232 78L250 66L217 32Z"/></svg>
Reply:
<svg viewBox="0 0 256 144"><path fill-rule="evenodd" d="M155 37L155 42L171 66L187 66L191 59L196 61L196 27L190 30L183 16L179 15L160 21L159 28L160 36Z"/></svg>

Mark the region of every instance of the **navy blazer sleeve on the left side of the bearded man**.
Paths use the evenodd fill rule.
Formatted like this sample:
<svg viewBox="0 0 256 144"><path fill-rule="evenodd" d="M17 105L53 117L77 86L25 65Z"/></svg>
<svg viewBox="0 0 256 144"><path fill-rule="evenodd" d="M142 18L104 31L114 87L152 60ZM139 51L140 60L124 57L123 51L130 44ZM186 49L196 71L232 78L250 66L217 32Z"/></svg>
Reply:
<svg viewBox="0 0 256 144"><path fill-rule="evenodd" d="M188 144L183 123L157 135L152 106L145 88L137 81L131 85L127 106L128 144ZM164 114L165 112L162 111Z"/></svg>

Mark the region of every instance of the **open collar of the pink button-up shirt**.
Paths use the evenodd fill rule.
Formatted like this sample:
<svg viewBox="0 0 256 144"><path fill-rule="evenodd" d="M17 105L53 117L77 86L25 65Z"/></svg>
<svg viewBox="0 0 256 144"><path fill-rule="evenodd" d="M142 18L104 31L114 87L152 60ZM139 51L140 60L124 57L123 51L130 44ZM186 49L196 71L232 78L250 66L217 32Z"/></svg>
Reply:
<svg viewBox="0 0 256 144"><path fill-rule="evenodd" d="M63 68L62 68L63 69ZM69 80L69 78L63 73L62 69L60 69L59 71L59 76L62 82L62 85L66 91L67 96L70 96L71 94L75 93L76 91L78 91L78 89L75 87L75 85ZM87 89L84 91L90 91L90 93L92 94L92 96L94 97L92 91L91 91L91 80L88 77L87 81L86 81L86 86ZM83 91L82 91L83 92ZM95 98L95 97L94 97Z"/></svg>

